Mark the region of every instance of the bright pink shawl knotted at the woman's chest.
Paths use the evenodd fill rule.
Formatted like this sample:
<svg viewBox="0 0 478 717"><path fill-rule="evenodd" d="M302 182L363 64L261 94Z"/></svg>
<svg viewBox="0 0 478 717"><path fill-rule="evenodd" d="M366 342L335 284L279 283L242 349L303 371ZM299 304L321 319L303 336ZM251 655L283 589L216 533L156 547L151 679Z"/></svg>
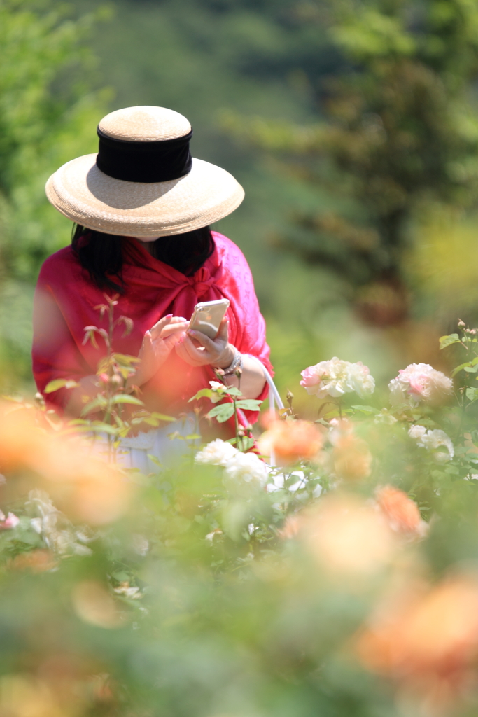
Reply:
<svg viewBox="0 0 478 717"><path fill-rule="evenodd" d="M230 239L217 232L212 234L214 253L191 277L152 257L135 239L125 241L126 292L118 297L115 316L133 319L133 331L124 337L123 326L115 329L115 351L138 356L145 332L166 314L189 319L198 301L227 298L229 341L242 353L257 356L272 371L264 319L259 313L249 266ZM100 342L95 348L82 342L85 326L107 328L95 309L102 303L103 292L82 269L72 247L44 262L34 304L33 371L39 391L54 379L95 374L105 346ZM142 399L150 410L177 415L191 410L188 399L208 386L211 379L214 371L210 366L189 366L172 351L158 374L142 387ZM64 407L69 391L62 389L47 398L57 407ZM248 414L249 420L254 417Z"/></svg>

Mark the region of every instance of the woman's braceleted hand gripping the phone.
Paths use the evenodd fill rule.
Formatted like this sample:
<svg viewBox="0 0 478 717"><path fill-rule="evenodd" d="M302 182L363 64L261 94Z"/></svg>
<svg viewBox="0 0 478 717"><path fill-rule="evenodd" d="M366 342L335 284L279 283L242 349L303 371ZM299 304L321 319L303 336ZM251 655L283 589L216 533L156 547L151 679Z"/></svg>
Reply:
<svg viewBox="0 0 478 717"><path fill-rule="evenodd" d="M194 341L196 344L193 343ZM184 338L176 342L176 353L191 366L209 364L219 369L226 369L236 355L236 349L229 343L229 321L223 318L219 325L219 333L214 339L201 331L188 329Z"/></svg>

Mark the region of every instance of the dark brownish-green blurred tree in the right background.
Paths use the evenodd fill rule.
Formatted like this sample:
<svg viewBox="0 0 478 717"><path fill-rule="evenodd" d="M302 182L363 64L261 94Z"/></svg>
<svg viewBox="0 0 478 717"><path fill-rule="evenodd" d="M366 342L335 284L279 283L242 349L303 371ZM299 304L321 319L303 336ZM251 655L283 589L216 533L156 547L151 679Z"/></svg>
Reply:
<svg viewBox="0 0 478 717"><path fill-rule="evenodd" d="M324 119L303 127L225 118L289 170L328 189L329 211L297 214L282 244L328 265L379 325L406 315L402 257L417 209L476 195L478 4L338 0L330 34L348 69L322 82ZM317 9L316 21L323 20Z"/></svg>

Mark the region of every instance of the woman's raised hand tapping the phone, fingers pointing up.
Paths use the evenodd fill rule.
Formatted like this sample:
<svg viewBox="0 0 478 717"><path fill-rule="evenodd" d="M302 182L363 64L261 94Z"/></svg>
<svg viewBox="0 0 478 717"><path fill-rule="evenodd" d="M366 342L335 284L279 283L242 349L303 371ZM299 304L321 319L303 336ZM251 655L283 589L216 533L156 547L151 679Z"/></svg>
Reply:
<svg viewBox="0 0 478 717"><path fill-rule="evenodd" d="M173 346L188 328L189 322L181 316L168 315L155 323L150 331L146 331L140 348L138 359L140 364L134 376L128 379L128 387L142 386L152 379L156 371L164 364Z"/></svg>

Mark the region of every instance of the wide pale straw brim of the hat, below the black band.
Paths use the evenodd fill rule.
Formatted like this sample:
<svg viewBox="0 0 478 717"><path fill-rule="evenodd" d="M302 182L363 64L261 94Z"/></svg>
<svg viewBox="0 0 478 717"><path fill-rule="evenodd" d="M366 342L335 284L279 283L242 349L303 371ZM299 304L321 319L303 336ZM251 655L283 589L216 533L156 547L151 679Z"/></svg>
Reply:
<svg viewBox="0 0 478 717"><path fill-rule="evenodd" d="M193 159L181 179L145 184L107 176L96 157L67 162L45 191L65 217L105 234L151 239L191 232L231 214L244 199L244 189L229 172L202 159Z"/></svg>

